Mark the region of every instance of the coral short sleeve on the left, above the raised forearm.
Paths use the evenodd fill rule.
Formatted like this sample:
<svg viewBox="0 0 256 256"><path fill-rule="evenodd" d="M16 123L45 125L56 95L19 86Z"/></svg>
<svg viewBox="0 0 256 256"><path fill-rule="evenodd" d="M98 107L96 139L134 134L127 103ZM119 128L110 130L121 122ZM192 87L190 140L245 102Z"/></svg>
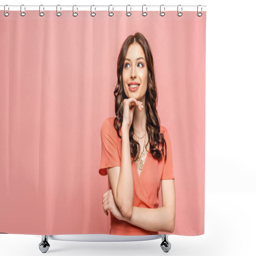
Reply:
<svg viewBox="0 0 256 256"><path fill-rule="evenodd" d="M107 118L101 125L101 158L99 173L107 175L107 168L121 166L117 149L117 133L112 118Z"/></svg>

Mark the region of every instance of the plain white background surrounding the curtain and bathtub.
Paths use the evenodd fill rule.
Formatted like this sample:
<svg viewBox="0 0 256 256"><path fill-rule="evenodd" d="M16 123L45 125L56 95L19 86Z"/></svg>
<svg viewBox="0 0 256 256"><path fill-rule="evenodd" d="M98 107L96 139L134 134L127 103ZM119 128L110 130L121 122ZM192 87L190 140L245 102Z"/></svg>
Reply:
<svg viewBox="0 0 256 256"><path fill-rule="evenodd" d="M169 255L256 255L256 82L254 1L13 1L1 5L207 5L205 233L169 236ZM159 9L160 11L160 9ZM4 35L1 35L4 36ZM65 225L63 223L63 225ZM49 255L164 255L161 239L49 240ZM0 235L0 254L42 255L41 238Z"/></svg>

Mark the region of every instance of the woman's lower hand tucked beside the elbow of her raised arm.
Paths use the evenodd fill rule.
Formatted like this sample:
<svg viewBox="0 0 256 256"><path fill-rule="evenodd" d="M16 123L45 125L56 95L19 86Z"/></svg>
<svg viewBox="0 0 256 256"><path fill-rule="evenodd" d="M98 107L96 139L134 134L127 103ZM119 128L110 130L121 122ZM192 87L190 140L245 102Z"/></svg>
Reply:
<svg viewBox="0 0 256 256"><path fill-rule="evenodd" d="M102 196L102 204L105 214L108 216L108 210L116 217L117 220L122 220L124 217L116 205L112 189L109 189Z"/></svg>

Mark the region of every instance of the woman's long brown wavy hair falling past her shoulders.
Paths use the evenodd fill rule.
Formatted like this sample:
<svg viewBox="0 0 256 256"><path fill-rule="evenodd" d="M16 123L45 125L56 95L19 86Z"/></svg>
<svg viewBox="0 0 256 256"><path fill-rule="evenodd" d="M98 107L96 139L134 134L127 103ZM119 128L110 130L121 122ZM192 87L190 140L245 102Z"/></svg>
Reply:
<svg viewBox="0 0 256 256"><path fill-rule="evenodd" d="M140 33L137 32L135 35L128 36L119 53L118 60L117 60L117 84L114 91L115 95L115 112L116 117L114 119L114 126L119 138L122 137L119 134L119 129L122 127L123 123L123 112L124 112L124 99L128 99L124 92L124 84L123 84L123 66L124 66L124 59L130 44L138 43L142 47L146 63L148 66L148 84L147 84L147 91L145 96L145 110L146 110L146 129L148 132L148 142L150 144L150 151L152 156L156 158L158 161L162 159L162 154L164 156L164 147L165 147L165 158L166 161L166 142L164 140L163 133L160 133L160 119L157 114L156 105L157 105L157 90L156 90L156 80L155 80L155 72L154 72L154 63L153 63L153 56L151 49L149 47L147 39ZM133 124L133 121L132 121ZM140 144L133 138L133 125L130 127L129 131L129 139L130 139L130 151L133 161L138 159L140 153ZM162 143L162 149L159 150L159 144ZM148 145L148 144L147 144ZM147 148L147 147L146 147ZM162 152L162 154L161 154Z"/></svg>

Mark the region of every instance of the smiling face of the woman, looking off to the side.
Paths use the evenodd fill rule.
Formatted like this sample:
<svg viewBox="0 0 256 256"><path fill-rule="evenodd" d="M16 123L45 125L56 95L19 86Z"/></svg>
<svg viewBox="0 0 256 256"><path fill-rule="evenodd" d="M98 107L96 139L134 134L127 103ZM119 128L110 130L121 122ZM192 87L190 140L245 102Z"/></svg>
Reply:
<svg viewBox="0 0 256 256"><path fill-rule="evenodd" d="M123 67L123 84L124 92L128 98L145 102L143 97L147 91L148 67L140 44L133 43L128 48ZM132 88L134 86L137 87Z"/></svg>

